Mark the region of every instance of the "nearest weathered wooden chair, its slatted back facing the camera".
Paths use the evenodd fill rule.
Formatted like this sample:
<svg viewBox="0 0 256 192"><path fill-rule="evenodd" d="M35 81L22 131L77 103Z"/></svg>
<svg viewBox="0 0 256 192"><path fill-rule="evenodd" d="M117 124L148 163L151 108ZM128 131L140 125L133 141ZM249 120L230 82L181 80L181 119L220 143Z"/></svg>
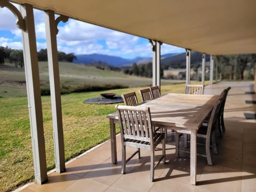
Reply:
<svg viewBox="0 0 256 192"><path fill-rule="evenodd" d="M150 150L150 181L154 181L155 167L163 160L165 164L165 133L154 132L151 125L149 107L116 105L122 141L122 174L125 174L126 163L138 154L140 148ZM155 165L155 148L162 141L162 156ZM126 146L137 150L126 159Z"/></svg>

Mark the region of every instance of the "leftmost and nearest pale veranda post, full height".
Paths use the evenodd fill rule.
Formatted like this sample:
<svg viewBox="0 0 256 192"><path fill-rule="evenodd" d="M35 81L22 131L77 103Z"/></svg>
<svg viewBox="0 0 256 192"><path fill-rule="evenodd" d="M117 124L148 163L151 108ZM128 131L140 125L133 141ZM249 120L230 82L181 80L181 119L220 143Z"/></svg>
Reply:
<svg viewBox="0 0 256 192"><path fill-rule="evenodd" d="M37 183L42 184L47 180L47 169L34 13L33 6L29 4L20 6L20 9L22 17L26 18L26 30L22 31L22 42L35 180Z"/></svg>

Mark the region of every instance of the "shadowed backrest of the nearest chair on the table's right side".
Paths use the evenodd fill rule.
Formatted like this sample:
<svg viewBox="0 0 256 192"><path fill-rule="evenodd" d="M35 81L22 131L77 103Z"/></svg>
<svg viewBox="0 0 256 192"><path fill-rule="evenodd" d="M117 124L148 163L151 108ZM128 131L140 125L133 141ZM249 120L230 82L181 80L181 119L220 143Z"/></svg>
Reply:
<svg viewBox="0 0 256 192"><path fill-rule="evenodd" d="M220 104L221 98L215 102L214 107L212 109L211 117L207 127L207 138L210 138L212 130L219 126Z"/></svg>

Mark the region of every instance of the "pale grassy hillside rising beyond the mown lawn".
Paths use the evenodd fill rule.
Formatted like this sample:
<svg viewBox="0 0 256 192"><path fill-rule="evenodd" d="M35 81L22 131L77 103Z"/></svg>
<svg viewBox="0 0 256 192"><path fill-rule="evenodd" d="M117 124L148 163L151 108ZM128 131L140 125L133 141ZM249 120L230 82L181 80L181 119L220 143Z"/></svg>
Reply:
<svg viewBox="0 0 256 192"><path fill-rule="evenodd" d="M122 85L127 87L148 86L151 78L125 75L121 71L101 70L92 66L59 62L60 86L106 86ZM47 62L39 62L41 89L49 89L49 73ZM161 83L173 84L182 81L162 79ZM0 65L0 98L26 96L26 78L24 69L15 68L13 64Z"/></svg>

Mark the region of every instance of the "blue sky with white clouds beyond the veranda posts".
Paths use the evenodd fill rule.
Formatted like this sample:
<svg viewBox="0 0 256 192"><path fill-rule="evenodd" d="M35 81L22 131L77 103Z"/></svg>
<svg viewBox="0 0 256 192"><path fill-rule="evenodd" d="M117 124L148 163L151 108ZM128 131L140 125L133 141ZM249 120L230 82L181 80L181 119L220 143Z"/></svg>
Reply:
<svg viewBox="0 0 256 192"><path fill-rule="evenodd" d="M58 16L58 15L57 15ZM44 12L34 9L37 51L46 49ZM0 46L22 49L21 30L14 14L0 8ZM4 19L3 19L4 18ZM122 58L152 57L148 39L69 19L60 22L57 35L58 51L78 54L107 54ZM161 54L185 52L181 47L163 44Z"/></svg>

